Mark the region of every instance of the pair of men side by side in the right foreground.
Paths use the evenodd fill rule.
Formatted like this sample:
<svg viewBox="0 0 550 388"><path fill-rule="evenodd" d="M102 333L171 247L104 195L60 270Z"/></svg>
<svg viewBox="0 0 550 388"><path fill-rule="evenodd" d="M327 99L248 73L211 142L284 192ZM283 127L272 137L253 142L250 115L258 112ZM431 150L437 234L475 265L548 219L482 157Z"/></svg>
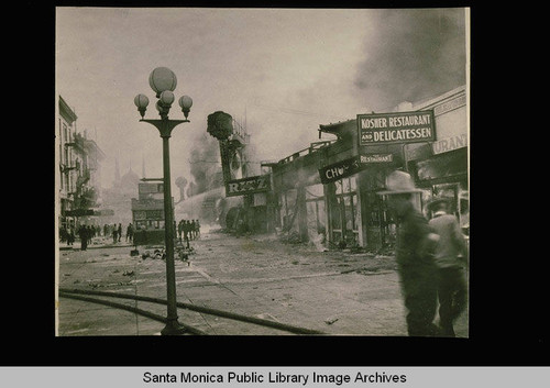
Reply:
<svg viewBox="0 0 550 388"><path fill-rule="evenodd" d="M410 336L455 336L454 321L468 302L468 244L449 200L427 204L430 220L416 207L417 189L409 174L388 175L388 208L397 219L396 262ZM439 302L439 324L435 324Z"/></svg>

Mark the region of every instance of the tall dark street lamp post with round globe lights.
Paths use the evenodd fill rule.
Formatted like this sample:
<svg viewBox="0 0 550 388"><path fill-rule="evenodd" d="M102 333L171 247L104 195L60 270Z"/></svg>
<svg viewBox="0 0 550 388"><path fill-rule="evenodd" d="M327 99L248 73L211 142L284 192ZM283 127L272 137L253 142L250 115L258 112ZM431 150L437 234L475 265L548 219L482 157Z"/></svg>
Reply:
<svg viewBox="0 0 550 388"><path fill-rule="evenodd" d="M174 102L174 89L177 85L176 75L166 67L155 68L150 77L151 88L156 92L156 109L161 120L147 120L143 117L148 106L148 98L145 95L138 95L134 103L141 114L140 122L154 125L163 138L163 174L164 174L164 241L166 246L166 293L167 293L167 317L166 326L161 331L162 335L177 335L185 332L184 326L177 320L176 304L176 271L174 264L174 213L172 209L170 189L170 162L169 162L169 137L172 131L180 123L188 123L187 117L193 106L193 100L188 96L179 98L179 107L184 112L185 120L169 120L168 112Z"/></svg>

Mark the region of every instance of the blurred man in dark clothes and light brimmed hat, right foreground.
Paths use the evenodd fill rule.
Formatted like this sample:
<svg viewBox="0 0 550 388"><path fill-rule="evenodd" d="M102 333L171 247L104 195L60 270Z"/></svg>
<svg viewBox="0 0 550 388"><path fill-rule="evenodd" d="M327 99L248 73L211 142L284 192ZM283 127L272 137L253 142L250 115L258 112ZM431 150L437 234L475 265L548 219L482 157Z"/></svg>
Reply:
<svg viewBox="0 0 550 388"><path fill-rule="evenodd" d="M407 331L410 336L439 334L433 324L437 309L437 267L433 251L438 235L416 207L415 196L421 192L409 174L393 171L386 178L389 210L398 223L395 255L402 291L407 308Z"/></svg>

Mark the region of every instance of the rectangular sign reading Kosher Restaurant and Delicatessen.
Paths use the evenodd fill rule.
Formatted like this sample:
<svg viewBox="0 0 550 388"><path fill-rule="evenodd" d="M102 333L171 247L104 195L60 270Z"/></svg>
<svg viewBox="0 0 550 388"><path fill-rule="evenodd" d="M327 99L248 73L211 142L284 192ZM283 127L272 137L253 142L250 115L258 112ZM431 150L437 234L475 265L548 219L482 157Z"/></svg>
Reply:
<svg viewBox="0 0 550 388"><path fill-rule="evenodd" d="M433 142L433 111L358 114L359 144Z"/></svg>

